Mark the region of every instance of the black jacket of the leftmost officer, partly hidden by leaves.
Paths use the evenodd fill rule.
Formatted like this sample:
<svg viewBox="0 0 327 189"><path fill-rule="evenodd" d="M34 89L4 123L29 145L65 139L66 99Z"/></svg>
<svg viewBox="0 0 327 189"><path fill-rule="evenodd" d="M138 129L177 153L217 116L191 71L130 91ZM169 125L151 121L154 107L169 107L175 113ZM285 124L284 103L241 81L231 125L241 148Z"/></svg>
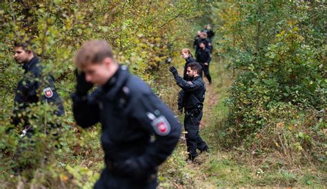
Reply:
<svg viewBox="0 0 327 189"><path fill-rule="evenodd" d="M19 124L21 120L21 111L24 111L32 103L42 100L53 105L56 115L63 115L63 103L54 86L54 78L50 75L41 76L41 64L39 58L34 56L28 63L23 65L25 73L22 80L19 81L14 97L13 124Z"/></svg>

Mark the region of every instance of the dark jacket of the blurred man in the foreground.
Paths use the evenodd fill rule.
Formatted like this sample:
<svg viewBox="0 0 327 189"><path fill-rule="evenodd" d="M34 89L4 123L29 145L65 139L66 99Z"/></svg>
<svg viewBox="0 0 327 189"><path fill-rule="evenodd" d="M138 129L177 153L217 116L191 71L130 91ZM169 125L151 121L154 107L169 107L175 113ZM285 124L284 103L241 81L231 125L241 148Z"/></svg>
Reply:
<svg viewBox="0 0 327 189"><path fill-rule="evenodd" d="M140 168L152 173L179 140L181 126L175 115L126 67L90 96L75 94L72 99L77 124L88 127L101 122L107 165L135 157Z"/></svg>

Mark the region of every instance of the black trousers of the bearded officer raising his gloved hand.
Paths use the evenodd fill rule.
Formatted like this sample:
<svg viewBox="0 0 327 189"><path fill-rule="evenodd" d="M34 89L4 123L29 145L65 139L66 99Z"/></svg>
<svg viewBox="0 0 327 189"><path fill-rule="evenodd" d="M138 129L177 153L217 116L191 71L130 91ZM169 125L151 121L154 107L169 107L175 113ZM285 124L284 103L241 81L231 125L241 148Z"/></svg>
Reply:
<svg viewBox="0 0 327 189"><path fill-rule="evenodd" d="M188 159L193 160L197 157L199 151L208 150L208 146L199 135L199 124L202 118L202 110L186 110L184 119L184 128L186 133L186 145L188 146Z"/></svg>

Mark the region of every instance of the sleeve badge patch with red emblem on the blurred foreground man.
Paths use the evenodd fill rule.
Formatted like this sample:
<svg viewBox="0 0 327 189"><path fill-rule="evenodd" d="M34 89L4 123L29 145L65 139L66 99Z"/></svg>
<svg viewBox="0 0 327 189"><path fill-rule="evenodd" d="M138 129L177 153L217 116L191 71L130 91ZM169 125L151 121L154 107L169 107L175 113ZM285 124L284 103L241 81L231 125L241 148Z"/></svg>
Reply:
<svg viewBox="0 0 327 189"><path fill-rule="evenodd" d="M166 136L170 133L170 124L164 115L155 118L155 115L148 113L148 118L152 120L151 125L158 135Z"/></svg>

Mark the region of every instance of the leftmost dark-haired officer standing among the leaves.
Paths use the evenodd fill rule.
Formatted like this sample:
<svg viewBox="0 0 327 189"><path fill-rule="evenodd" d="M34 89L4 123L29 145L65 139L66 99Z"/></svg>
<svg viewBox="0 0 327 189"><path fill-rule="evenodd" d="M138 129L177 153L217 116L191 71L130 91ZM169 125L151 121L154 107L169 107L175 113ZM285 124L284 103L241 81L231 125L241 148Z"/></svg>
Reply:
<svg viewBox="0 0 327 189"><path fill-rule="evenodd" d="M14 111L12 123L23 126L23 135L33 132L32 126L28 121L28 116L24 111L31 104L40 100L52 105L54 115L63 115L63 102L54 86L54 78L50 75L42 74L41 63L37 55L30 50L28 43L14 44L14 58L23 65L23 79L19 81L16 96L14 97ZM52 124L52 126L57 126Z"/></svg>

